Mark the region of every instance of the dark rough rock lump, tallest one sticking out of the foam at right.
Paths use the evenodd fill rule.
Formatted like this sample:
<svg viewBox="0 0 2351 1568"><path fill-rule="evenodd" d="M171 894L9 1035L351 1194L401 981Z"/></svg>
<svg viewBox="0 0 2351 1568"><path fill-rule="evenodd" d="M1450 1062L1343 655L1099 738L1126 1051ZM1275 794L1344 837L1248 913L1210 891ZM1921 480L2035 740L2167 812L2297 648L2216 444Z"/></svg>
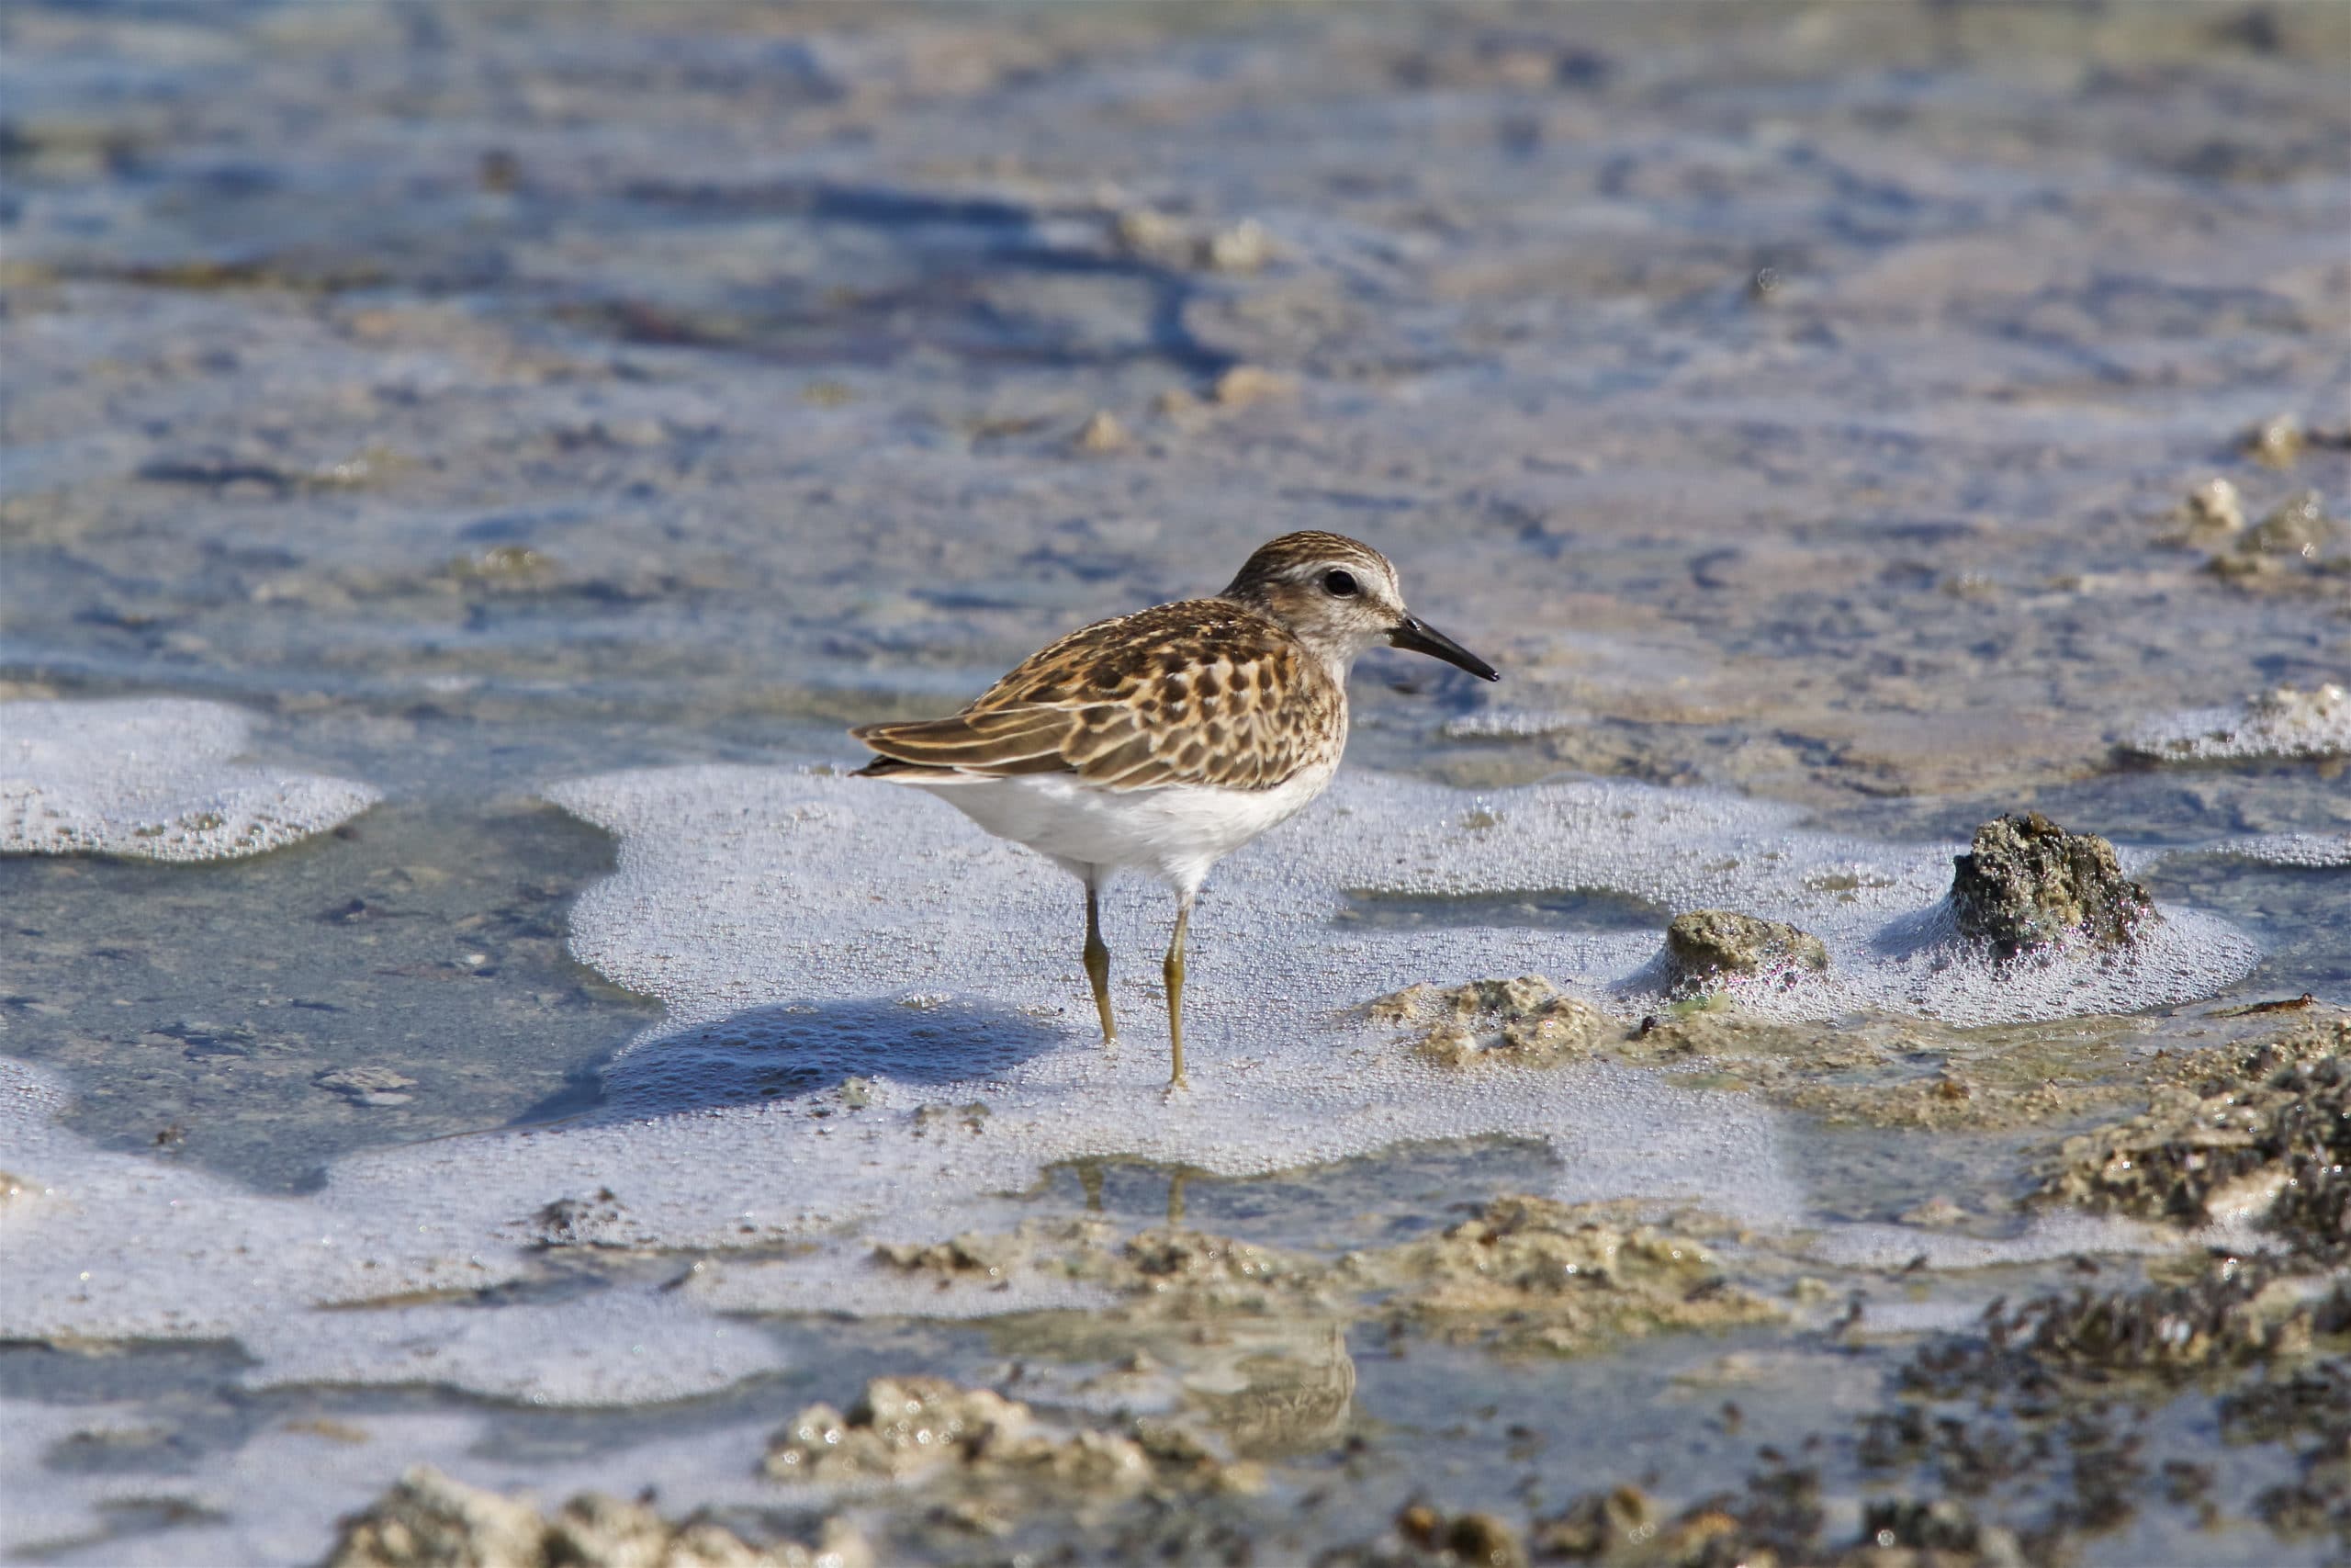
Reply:
<svg viewBox="0 0 2351 1568"><path fill-rule="evenodd" d="M1951 912L1958 929L2001 957L2069 938L2121 947L2163 919L2156 900L2123 875L2114 844L2067 832L2038 811L2017 811L1975 830L1951 858Z"/></svg>

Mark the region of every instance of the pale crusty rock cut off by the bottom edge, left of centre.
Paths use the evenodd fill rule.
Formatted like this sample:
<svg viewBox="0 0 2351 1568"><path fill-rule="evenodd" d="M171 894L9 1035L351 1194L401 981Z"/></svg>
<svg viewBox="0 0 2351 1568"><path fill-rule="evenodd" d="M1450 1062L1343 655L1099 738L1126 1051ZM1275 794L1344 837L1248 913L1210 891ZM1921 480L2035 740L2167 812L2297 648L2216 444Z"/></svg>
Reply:
<svg viewBox="0 0 2351 1568"><path fill-rule="evenodd" d="M865 1540L825 1521L823 1540L755 1544L708 1519L581 1493L552 1516L527 1497L421 1465L341 1523L327 1568L872 1568Z"/></svg>

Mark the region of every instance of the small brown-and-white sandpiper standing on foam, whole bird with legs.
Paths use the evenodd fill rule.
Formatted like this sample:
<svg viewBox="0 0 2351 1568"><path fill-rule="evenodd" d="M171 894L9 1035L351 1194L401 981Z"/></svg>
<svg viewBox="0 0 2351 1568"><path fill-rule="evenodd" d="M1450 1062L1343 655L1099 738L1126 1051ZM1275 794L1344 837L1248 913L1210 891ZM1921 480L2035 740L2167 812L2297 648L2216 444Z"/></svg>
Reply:
<svg viewBox="0 0 2351 1568"><path fill-rule="evenodd" d="M1208 867L1324 792L1347 750L1347 670L1375 642L1483 679L1493 665L1404 609L1396 569L1342 534L1260 545L1213 599L1098 621L947 719L865 724L858 778L933 790L1086 884L1086 978L1117 1044L1103 884L1176 891L1164 964L1168 1084L1183 1077L1183 943Z"/></svg>

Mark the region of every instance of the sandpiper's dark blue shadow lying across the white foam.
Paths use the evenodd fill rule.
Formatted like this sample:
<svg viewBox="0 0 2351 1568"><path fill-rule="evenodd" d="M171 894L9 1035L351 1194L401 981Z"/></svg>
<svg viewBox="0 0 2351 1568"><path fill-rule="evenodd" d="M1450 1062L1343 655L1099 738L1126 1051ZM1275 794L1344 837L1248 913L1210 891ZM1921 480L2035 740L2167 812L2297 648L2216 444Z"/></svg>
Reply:
<svg viewBox="0 0 2351 1568"><path fill-rule="evenodd" d="M1051 1020L966 999L776 1001L642 1039L513 1126L647 1121L799 1100L851 1079L959 1084L1067 1044Z"/></svg>

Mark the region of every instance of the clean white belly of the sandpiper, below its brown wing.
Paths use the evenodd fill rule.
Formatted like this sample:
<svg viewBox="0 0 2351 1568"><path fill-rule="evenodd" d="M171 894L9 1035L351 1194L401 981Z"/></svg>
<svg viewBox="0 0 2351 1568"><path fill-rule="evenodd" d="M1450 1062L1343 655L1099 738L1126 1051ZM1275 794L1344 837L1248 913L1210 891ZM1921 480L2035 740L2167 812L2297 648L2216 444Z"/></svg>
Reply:
<svg viewBox="0 0 2351 1568"><path fill-rule="evenodd" d="M1338 759L1302 769L1272 790L1159 785L1091 790L1070 773L1020 778L919 778L910 783L957 806L973 823L1027 844L1086 877L1086 867L1138 870L1180 891L1199 891L1208 867L1267 827L1298 816L1324 792Z"/></svg>

